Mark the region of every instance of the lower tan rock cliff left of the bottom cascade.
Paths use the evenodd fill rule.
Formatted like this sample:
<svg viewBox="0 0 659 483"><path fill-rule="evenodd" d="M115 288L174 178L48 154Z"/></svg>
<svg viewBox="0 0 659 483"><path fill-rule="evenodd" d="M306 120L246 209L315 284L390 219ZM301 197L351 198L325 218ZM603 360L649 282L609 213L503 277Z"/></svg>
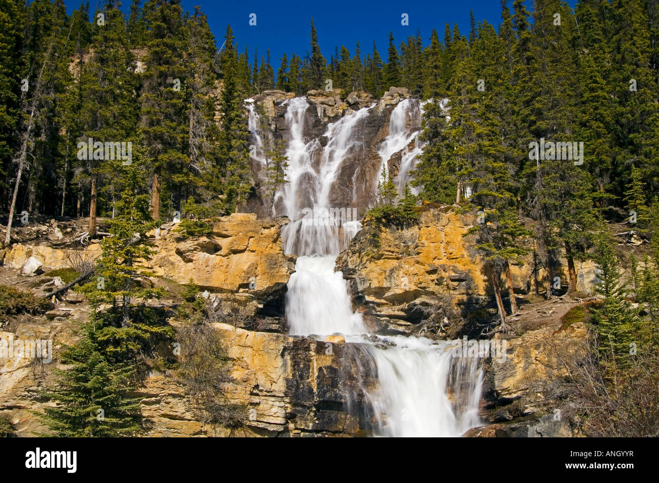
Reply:
<svg viewBox="0 0 659 483"><path fill-rule="evenodd" d="M0 414L9 416L17 436L45 431L34 415L47 404L38 390L53 384L53 368L66 368L59 353L63 345L76 341L75 327L86 316L87 310L76 308L67 320L40 320L20 324L15 332L0 332L5 341L54 341L51 362L0 357ZM152 370L136 393L149 420L145 436L354 436L371 427L361 387L373 375L358 370L368 367L368 360L350 345L226 324L216 327L233 359L234 382L227 384L226 395L248 407L248 420L231 431L204 426L175 375Z"/></svg>

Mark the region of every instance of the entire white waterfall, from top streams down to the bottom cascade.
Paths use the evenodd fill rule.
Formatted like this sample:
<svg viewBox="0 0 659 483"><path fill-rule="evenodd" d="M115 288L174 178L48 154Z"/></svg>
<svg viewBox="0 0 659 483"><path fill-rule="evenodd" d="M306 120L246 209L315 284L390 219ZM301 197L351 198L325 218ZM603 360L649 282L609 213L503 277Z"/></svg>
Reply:
<svg viewBox="0 0 659 483"><path fill-rule="evenodd" d="M368 333L362 315L353 312L347 281L334 271L341 250L361 229L350 207L329 207L331 185L343 159L363 149L357 128L371 107L345 115L328 125L327 142L308 137L305 98L286 101L289 130L289 183L279 193L277 213L291 218L282 230L283 248L297 254L286 296L286 318L291 335L344 335L355 350L365 351L376 368L377 389L362 387L374 413L378 436L460 436L478 424L482 370L477 358L455 357L450 341L422 337L383 337ZM409 145L418 134L422 105L401 101L382 143L383 163ZM415 149L401 160L399 189L413 168ZM322 151L321 151L322 150ZM401 185L402 183L402 185ZM354 200L353 200L354 202Z"/></svg>

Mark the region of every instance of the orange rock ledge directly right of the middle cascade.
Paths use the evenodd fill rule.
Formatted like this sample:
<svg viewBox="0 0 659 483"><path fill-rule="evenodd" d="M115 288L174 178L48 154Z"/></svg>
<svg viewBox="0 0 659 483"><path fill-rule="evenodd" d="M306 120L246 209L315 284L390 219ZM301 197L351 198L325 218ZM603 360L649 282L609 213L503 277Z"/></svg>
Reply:
<svg viewBox="0 0 659 483"><path fill-rule="evenodd" d="M474 250L476 241L467 235L476 219L455 208L427 210L418 226L408 229L385 227L378 229L380 246L373 244L373 225L366 225L341 252L336 270L341 270L351 288L353 304L364 314L368 324L380 333L410 333L428 317L424 308L449 299L453 310L463 319L478 308L492 306L491 274L482 256ZM567 279L567 262L556 268ZM577 264L577 289L592 291L594 266L590 262ZM534 266L532 257L511 265L511 278L516 294L529 294L534 279L542 280L546 273ZM505 291L505 285L502 285ZM507 292L503 293L507 297ZM442 334L461 337L470 327L449 327L448 316ZM445 329L445 330L444 330Z"/></svg>

